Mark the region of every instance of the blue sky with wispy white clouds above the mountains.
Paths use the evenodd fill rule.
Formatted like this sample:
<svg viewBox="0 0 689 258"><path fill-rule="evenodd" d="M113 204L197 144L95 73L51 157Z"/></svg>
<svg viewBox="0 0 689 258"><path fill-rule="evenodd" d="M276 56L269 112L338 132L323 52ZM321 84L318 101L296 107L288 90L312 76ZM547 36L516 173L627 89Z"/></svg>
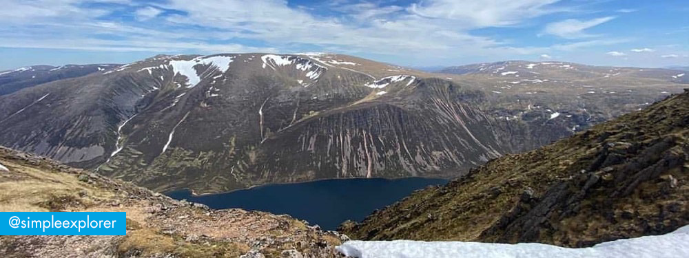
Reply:
<svg viewBox="0 0 689 258"><path fill-rule="evenodd" d="M0 69L336 52L411 67L689 65L686 0L0 0Z"/></svg>

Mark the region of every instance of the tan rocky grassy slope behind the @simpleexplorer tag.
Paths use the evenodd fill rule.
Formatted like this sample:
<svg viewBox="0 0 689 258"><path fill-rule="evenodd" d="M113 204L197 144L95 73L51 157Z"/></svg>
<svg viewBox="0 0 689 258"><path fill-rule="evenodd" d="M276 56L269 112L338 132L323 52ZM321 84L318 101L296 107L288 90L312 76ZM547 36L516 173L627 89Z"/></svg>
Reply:
<svg viewBox="0 0 689 258"><path fill-rule="evenodd" d="M125 236L0 236L0 257L340 257L337 233L287 215L211 210L0 147L0 211L119 211Z"/></svg>

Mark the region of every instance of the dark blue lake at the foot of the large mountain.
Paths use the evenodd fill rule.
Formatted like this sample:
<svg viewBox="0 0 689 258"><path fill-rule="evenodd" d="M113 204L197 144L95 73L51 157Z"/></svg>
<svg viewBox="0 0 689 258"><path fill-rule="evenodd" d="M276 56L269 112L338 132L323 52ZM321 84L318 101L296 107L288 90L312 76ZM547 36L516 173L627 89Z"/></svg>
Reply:
<svg viewBox="0 0 689 258"><path fill-rule="evenodd" d="M446 182L431 178L353 178L270 184L214 195L194 196L188 190L172 191L166 195L215 209L243 208L289 214L311 225L318 224L325 230L335 230L347 219L361 221L376 209L393 204L417 189Z"/></svg>

